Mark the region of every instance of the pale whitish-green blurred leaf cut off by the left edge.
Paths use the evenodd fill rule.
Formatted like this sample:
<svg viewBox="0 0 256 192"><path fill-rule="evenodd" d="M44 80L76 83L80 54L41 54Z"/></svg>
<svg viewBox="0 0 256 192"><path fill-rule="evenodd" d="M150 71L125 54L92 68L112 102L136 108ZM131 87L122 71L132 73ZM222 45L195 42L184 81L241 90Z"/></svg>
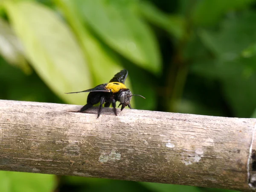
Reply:
<svg viewBox="0 0 256 192"><path fill-rule="evenodd" d="M0 17L0 54L10 64L20 67L24 73L31 73L31 68L24 57L20 40L9 24Z"/></svg>

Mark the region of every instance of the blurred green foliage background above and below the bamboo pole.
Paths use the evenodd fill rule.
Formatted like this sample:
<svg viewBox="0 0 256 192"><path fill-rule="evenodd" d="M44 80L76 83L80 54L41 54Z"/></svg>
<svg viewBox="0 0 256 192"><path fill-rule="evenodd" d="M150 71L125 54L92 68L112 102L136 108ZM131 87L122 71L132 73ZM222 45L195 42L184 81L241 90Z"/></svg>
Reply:
<svg viewBox="0 0 256 192"><path fill-rule="evenodd" d="M137 109L256 118L256 0L0 0L0 99L85 104L123 68ZM31 176L32 175L32 176ZM1 192L226 191L0 172ZM12 184L12 183L15 183ZM44 186L42 186L44 183Z"/></svg>

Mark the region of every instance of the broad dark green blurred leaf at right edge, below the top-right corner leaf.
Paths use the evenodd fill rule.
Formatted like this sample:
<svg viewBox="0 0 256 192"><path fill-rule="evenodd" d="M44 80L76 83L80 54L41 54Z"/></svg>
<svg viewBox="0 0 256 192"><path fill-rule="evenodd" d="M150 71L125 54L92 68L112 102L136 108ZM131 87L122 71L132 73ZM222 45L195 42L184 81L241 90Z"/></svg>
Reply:
<svg viewBox="0 0 256 192"><path fill-rule="evenodd" d="M201 30L202 42L218 58L231 61L256 42L256 13L244 12L238 17L227 18L218 31Z"/></svg>

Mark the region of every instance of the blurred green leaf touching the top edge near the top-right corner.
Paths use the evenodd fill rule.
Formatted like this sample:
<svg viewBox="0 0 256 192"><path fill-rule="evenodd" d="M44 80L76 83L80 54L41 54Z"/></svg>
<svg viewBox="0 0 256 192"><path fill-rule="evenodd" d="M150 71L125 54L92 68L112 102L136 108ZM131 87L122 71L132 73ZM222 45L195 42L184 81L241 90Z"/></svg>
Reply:
<svg viewBox="0 0 256 192"><path fill-rule="evenodd" d="M232 9L244 9L255 0L199 0L192 13L196 25L214 25Z"/></svg>

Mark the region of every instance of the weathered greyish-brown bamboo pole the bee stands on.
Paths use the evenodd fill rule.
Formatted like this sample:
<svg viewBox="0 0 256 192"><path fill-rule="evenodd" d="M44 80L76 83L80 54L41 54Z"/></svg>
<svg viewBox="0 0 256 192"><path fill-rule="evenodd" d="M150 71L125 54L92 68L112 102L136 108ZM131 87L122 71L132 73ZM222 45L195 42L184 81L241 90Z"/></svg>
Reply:
<svg viewBox="0 0 256 192"><path fill-rule="evenodd" d="M256 119L0 100L0 170L249 191Z"/></svg>

